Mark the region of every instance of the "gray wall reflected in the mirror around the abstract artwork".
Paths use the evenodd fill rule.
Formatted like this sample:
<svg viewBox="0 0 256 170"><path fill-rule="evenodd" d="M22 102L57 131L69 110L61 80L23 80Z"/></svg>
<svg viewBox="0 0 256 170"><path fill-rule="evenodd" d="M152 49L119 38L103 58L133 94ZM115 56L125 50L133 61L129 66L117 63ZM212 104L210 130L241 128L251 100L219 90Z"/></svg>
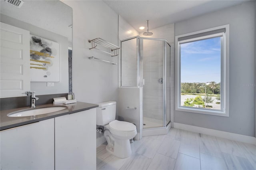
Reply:
<svg viewBox="0 0 256 170"><path fill-rule="evenodd" d="M34 36L60 43L60 82L54 82L54 87L47 87L46 82L31 82L30 90L35 91L36 95L68 93L68 38L3 14L1 22L28 30Z"/></svg>

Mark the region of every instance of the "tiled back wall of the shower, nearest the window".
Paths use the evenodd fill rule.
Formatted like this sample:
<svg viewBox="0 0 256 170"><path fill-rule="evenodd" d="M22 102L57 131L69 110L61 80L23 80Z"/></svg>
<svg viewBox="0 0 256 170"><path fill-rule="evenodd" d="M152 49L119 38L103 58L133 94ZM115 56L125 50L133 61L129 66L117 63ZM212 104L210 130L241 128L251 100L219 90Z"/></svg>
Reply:
<svg viewBox="0 0 256 170"><path fill-rule="evenodd" d="M155 28L153 30L149 30L153 32L152 36L147 36L147 38L158 38L165 39L171 45L171 51L167 52L166 58L166 120L170 120L171 115L173 115L174 108L174 24L169 24L166 26L162 26L159 28ZM143 34L140 34L140 37L145 37ZM163 97L162 97L162 87L158 83L158 79L160 79L160 75L162 75L162 47L154 47L154 45L147 45L144 41L144 50L143 50L143 60L144 60L144 79L148 79L148 76L151 76L152 85L149 88L146 88L147 82L145 82L145 86L143 89L143 116L152 118L152 119L163 119L162 114L162 105L163 105ZM145 49L147 48L147 49ZM150 49L151 48L151 49ZM151 53L151 54L150 54ZM151 55L151 59L148 58L148 55ZM169 55L168 55L169 54ZM153 57L158 55L158 57ZM155 58L154 61L152 57ZM158 58L158 60L156 60ZM161 58L161 59L160 59ZM156 63L155 63L156 62ZM150 68L149 69L149 63ZM168 67L169 65L169 67ZM156 77L156 75L158 77ZM152 80L153 79L153 80ZM154 82L153 82L154 81ZM173 122L173 118L171 120Z"/></svg>

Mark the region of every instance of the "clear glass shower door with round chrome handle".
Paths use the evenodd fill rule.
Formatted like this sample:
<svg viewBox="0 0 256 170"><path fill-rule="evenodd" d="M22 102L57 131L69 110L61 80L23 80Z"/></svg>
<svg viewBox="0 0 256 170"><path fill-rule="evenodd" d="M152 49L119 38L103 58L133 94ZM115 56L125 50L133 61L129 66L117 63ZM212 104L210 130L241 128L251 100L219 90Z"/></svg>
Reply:
<svg viewBox="0 0 256 170"><path fill-rule="evenodd" d="M164 42L148 39L141 41L143 41L143 128L163 127Z"/></svg>

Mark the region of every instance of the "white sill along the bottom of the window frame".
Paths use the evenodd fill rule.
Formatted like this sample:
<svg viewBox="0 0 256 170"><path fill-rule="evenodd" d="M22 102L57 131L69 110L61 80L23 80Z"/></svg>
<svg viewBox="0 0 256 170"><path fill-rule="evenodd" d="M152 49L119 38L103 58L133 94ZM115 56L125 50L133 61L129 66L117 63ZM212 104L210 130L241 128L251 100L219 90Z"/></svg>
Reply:
<svg viewBox="0 0 256 170"><path fill-rule="evenodd" d="M215 115L215 116L224 116L224 117L229 117L228 112L223 112L219 110L214 110L214 109L196 109L196 108L190 108L186 106L181 106L175 109L176 111L183 111L183 112L190 112L190 113L199 113L199 114L204 114L204 115Z"/></svg>

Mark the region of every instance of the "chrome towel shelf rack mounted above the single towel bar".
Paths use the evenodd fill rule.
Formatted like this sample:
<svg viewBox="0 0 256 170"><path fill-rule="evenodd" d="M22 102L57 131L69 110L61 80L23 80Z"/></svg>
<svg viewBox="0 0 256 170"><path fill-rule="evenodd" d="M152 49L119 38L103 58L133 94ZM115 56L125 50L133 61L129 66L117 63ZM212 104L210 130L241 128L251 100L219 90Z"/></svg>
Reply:
<svg viewBox="0 0 256 170"><path fill-rule="evenodd" d="M110 54L112 57L117 56L118 55L118 49L120 49L120 47L107 42L106 40L103 40L102 38L95 38L93 40L88 40L89 43L92 43L92 47L89 49L98 49L104 53ZM101 45L103 47L106 47L107 49L110 49L113 53L109 53L107 51L104 51L102 49L96 48L97 45Z"/></svg>

